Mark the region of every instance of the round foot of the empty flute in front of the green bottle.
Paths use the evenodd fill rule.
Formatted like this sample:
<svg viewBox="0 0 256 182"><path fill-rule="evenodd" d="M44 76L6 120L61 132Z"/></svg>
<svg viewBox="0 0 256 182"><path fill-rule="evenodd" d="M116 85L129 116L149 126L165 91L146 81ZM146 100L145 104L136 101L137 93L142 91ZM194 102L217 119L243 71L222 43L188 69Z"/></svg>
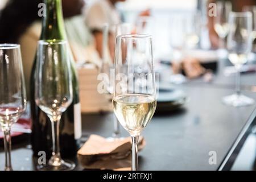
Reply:
<svg viewBox="0 0 256 182"><path fill-rule="evenodd" d="M50 164L36 166L38 171L71 171L76 167L75 163L69 160L61 160L59 166L53 166Z"/></svg>

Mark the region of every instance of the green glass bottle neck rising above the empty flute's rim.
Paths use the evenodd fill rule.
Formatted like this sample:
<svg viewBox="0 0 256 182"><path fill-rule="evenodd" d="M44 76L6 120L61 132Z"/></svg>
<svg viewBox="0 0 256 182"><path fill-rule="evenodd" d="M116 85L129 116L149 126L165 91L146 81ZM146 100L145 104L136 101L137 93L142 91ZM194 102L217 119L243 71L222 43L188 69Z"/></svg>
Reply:
<svg viewBox="0 0 256 182"><path fill-rule="evenodd" d="M61 0L44 0L46 16L43 17L41 40L66 40Z"/></svg>

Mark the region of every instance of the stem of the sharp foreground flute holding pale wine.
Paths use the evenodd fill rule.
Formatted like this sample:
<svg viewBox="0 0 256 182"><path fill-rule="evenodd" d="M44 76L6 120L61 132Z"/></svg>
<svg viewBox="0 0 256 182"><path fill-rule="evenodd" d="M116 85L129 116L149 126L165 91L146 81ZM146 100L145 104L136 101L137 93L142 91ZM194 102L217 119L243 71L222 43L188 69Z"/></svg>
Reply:
<svg viewBox="0 0 256 182"><path fill-rule="evenodd" d="M139 146L139 135L131 135L131 144L132 144L132 171L139 170L139 162L138 162L138 146Z"/></svg>

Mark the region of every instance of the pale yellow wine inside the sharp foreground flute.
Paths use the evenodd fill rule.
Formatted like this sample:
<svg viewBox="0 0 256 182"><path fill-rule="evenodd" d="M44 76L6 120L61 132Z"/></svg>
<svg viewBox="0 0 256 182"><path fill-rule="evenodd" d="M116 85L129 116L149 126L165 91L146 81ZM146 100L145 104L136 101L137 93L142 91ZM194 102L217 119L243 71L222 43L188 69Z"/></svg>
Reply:
<svg viewBox="0 0 256 182"><path fill-rule="evenodd" d="M155 113L156 100L146 94L122 94L113 100L114 113L131 134L140 133Z"/></svg>

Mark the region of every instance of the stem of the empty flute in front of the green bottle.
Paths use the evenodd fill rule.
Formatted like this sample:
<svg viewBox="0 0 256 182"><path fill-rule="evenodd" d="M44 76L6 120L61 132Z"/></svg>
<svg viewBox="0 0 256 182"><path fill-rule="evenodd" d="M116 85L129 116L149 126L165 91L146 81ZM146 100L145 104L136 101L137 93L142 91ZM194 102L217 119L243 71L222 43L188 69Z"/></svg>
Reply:
<svg viewBox="0 0 256 182"><path fill-rule="evenodd" d="M52 124L52 156L49 160L49 165L60 166L60 118L61 115L53 115Z"/></svg>

